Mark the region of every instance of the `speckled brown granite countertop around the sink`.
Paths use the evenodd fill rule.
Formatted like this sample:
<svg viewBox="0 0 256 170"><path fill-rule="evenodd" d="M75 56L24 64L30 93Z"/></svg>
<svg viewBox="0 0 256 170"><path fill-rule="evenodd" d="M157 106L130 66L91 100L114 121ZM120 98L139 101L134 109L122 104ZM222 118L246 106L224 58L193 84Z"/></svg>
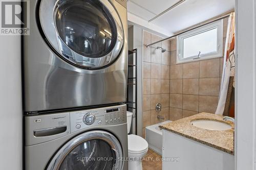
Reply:
<svg viewBox="0 0 256 170"><path fill-rule="evenodd" d="M222 115L202 112L159 127L234 155L234 125L230 121L224 121L222 117ZM218 122L227 123L232 126L232 129L225 131L201 129L191 125L191 120L196 119L216 120Z"/></svg>

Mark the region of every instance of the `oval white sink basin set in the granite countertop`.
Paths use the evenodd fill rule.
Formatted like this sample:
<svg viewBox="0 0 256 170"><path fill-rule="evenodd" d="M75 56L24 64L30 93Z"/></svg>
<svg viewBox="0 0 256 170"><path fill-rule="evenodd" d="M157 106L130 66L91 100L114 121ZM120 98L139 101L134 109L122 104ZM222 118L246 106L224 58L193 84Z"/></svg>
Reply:
<svg viewBox="0 0 256 170"><path fill-rule="evenodd" d="M191 125L198 128L214 130L214 131L225 131L232 128L228 124L217 122L215 120L192 120Z"/></svg>

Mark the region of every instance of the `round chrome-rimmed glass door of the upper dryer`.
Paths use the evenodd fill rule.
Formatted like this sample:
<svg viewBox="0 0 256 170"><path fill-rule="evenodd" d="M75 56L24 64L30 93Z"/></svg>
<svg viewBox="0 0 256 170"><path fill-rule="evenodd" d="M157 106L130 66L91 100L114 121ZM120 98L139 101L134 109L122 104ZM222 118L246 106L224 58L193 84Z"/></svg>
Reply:
<svg viewBox="0 0 256 170"><path fill-rule="evenodd" d="M96 69L119 57L123 27L108 0L44 0L38 5L38 25L61 58Z"/></svg>

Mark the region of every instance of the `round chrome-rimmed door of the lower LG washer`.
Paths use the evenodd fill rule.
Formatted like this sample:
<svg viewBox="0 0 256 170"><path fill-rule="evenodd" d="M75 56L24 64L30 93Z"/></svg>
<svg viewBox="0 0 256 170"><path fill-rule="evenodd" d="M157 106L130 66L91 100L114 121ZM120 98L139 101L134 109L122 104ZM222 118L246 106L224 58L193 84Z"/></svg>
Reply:
<svg viewBox="0 0 256 170"><path fill-rule="evenodd" d="M114 135L105 131L90 131L66 143L46 169L122 169L122 156L122 147Z"/></svg>

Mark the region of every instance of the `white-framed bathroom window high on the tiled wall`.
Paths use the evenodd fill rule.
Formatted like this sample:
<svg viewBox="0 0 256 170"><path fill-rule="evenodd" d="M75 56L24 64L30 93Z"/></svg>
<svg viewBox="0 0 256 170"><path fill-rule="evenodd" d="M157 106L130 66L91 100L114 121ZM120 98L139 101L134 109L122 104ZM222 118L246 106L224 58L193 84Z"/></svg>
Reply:
<svg viewBox="0 0 256 170"><path fill-rule="evenodd" d="M177 63L223 56L223 19L177 36Z"/></svg>

